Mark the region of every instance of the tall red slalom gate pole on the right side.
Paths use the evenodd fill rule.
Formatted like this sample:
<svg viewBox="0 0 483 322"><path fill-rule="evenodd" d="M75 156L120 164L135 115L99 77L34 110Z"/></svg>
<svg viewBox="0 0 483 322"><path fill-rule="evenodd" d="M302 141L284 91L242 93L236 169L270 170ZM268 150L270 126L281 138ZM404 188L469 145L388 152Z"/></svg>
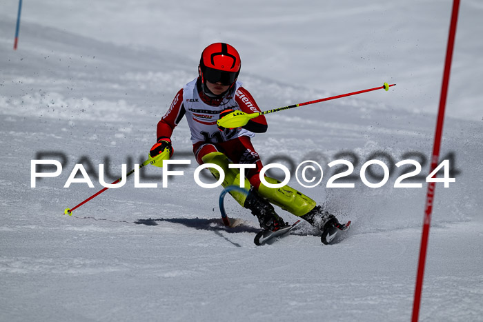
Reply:
<svg viewBox="0 0 483 322"><path fill-rule="evenodd" d="M437 167L440 157L441 137L444 123L444 110L446 108L446 96L448 94L449 74L451 72L451 60L455 44L456 25L460 0L453 0L453 12L451 14L451 24L449 27L448 47L446 48L446 61L444 62L443 83L441 88L440 108L437 113L437 123L435 130L435 141L433 143L433 157L431 157L431 170ZM417 279L413 303L413 322L417 322L420 314L421 292L424 280L424 265L426 263L426 250L428 249L429 228L431 226L431 212L433 211L433 200L435 194L435 183L428 183L426 192L426 206L424 210L424 223L422 228L420 260L417 265Z"/></svg>

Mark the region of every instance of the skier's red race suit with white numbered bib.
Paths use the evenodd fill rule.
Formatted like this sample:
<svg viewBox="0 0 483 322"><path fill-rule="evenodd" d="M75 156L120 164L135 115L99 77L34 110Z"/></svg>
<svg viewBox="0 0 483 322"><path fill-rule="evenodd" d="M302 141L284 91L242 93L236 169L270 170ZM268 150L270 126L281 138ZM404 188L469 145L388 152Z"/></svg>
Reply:
<svg viewBox="0 0 483 322"><path fill-rule="evenodd" d="M255 174L262 169L262 162L253 148L250 138L255 136L255 132L266 131L265 117L261 115L251 119L243 128L225 129L224 131L219 130L216 123L219 114L224 110L241 110L246 113L261 112L255 99L248 90L242 87L242 83L237 81L221 101L209 104L210 101L204 99L204 94L200 95L200 85L199 79L194 79L177 92L168 112L157 124L157 138L170 138L175 127L186 115L197 162L202 164L201 158L204 155L219 151L234 163L254 163L257 168L248 171L246 177L252 185L258 188L259 178Z"/></svg>

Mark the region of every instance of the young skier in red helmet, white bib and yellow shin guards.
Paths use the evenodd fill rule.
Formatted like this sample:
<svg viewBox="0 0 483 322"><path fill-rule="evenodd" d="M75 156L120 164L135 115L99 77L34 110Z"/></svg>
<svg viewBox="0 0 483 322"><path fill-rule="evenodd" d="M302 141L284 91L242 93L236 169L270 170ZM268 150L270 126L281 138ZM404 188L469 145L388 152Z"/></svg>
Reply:
<svg viewBox="0 0 483 322"><path fill-rule="evenodd" d="M227 43L213 43L206 47L199 60L198 77L177 92L168 112L157 124L157 143L152 146L150 156L155 157L165 149L172 156L170 137L186 115L196 161L200 165L219 165L225 173L224 187L240 186L239 170L228 168L229 163L255 165L245 173L248 194L237 191L231 191L230 194L242 207L251 210L262 229L276 231L286 225L270 203L305 219L322 232L327 228L339 228L339 221L316 205L313 199L288 185L275 189L260 182L259 172L263 165L250 138L255 133L266 132L268 125L264 115L251 119L242 128L217 127L216 121L233 111L261 112L255 99L237 81L240 66L237 50ZM209 170L219 179L216 169ZM269 177L265 179L268 183L279 183Z"/></svg>

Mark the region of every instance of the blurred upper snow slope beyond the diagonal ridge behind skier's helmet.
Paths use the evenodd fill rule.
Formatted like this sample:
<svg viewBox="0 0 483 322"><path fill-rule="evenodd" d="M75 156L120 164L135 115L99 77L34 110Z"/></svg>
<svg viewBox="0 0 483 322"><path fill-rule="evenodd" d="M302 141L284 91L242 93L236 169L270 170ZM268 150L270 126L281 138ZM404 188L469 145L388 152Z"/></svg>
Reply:
<svg viewBox="0 0 483 322"><path fill-rule="evenodd" d="M1 0L12 47L18 0ZM215 41L233 44L244 72L337 94L367 83L399 88L378 99L398 109L434 112L440 97L451 0L72 1L23 3L22 21L137 48L172 50L197 62ZM5 19L3 19L5 17ZM483 118L483 4L465 0L449 88L452 117ZM27 46L21 26L19 48ZM48 48L48 46L45 46ZM190 70L191 71L191 70Z"/></svg>

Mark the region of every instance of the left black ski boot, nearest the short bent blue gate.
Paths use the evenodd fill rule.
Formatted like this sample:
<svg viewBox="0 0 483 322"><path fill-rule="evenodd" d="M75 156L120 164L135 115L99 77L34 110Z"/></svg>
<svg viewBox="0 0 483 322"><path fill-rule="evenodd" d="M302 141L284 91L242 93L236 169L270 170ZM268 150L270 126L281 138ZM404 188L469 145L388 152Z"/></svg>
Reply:
<svg viewBox="0 0 483 322"><path fill-rule="evenodd" d="M246 196L244 208L251 210L252 214L258 218L260 227L264 230L275 232L285 225L288 225L288 223L275 212L273 205L260 197L253 188L250 189L248 196Z"/></svg>

